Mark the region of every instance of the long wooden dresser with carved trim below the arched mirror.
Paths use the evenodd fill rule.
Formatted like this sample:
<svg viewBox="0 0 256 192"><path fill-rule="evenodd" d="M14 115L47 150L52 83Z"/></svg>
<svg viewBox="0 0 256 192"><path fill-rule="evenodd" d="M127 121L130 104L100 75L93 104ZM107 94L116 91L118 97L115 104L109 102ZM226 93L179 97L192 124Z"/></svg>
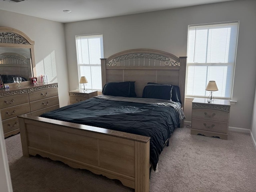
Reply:
<svg viewBox="0 0 256 192"><path fill-rule="evenodd" d="M58 84L44 83L0 90L0 112L4 137L20 132L17 116L39 116L59 108Z"/></svg>

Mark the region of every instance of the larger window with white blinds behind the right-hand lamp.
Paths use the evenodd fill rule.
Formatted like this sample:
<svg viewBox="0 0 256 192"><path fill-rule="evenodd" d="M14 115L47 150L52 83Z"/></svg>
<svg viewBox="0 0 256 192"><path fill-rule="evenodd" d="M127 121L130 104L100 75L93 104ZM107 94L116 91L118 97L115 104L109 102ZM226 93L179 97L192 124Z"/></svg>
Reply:
<svg viewBox="0 0 256 192"><path fill-rule="evenodd" d="M232 97L238 22L188 26L186 96L207 97L215 80L216 98Z"/></svg>

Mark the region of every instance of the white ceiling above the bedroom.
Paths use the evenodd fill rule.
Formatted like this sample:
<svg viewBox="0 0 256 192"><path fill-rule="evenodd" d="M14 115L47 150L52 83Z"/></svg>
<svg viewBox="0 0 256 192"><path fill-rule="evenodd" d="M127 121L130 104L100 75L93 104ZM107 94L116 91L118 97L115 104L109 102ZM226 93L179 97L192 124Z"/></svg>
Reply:
<svg viewBox="0 0 256 192"><path fill-rule="evenodd" d="M0 9L68 23L226 1L232 0L0 0Z"/></svg>

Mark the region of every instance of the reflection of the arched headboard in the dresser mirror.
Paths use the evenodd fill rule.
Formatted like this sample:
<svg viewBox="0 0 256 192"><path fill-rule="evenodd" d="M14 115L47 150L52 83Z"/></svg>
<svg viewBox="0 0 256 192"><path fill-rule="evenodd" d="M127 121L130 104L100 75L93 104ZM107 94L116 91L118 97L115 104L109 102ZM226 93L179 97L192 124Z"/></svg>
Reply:
<svg viewBox="0 0 256 192"><path fill-rule="evenodd" d="M11 64L11 65L26 65L28 66L28 59L20 54L16 53L3 53L0 54L0 64Z"/></svg>

